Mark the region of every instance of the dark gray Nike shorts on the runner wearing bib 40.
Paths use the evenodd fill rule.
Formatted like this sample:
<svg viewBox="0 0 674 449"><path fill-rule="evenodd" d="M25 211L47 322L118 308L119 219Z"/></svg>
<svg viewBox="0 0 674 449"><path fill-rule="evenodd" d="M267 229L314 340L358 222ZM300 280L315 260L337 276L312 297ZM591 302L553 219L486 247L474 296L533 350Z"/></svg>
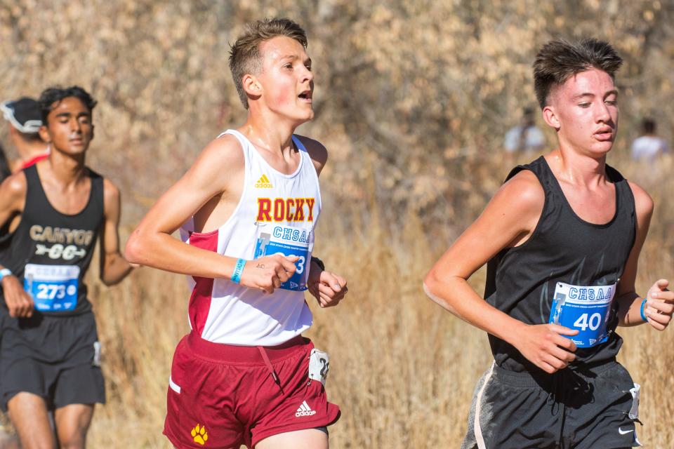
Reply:
<svg viewBox="0 0 674 449"><path fill-rule="evenodd" d="M637 387L616 361L554 375L514 373L494 363L475 387L461 448L637 447L637 408Z"/></svg>

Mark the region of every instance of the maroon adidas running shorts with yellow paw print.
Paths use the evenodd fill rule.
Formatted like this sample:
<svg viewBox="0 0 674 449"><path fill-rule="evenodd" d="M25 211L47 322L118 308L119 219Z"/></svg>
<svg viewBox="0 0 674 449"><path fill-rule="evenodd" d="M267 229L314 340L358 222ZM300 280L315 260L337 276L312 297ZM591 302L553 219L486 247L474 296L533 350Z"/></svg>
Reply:
<svg viewBox="0 0 674 449"><path fill-rule="evenodd" d="M247 347L185 335L173 354L164 434L180 449L239 449L336 422L338 406L308 377L313 347L302 336Z"/></svg>

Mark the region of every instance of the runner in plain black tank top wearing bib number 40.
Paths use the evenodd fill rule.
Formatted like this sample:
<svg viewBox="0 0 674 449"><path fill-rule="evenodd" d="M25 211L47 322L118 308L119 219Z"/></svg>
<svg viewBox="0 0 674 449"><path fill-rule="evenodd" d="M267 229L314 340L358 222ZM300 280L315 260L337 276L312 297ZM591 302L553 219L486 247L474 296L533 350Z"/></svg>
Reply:
<svg viewBox="0 0 674 449"><path fill-rule="evenodd" d="M515 168L426 276L432 300L489 333L465 449L639 445L640 386L615 361L616 326L668 326L674 293L635 293L653 202L606 165L618 123L608 43L551 41L534 64L559 147ZM485 263L485 300L467 279Z"/></svg>

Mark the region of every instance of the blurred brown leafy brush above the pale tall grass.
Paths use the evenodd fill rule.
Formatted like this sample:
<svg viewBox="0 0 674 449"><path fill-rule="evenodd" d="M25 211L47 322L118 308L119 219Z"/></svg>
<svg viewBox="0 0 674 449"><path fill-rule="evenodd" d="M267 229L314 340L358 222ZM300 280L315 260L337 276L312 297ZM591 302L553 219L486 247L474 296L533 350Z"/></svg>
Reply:
<svg viewBox="0 0 674 449"><path fill-rule="evenodd" d="M288 16L310 37L317 119L300 132L331 151L323 188L396 206L382 213L409 206L461 222L452 211L483 203L505 175L489 161L535 106L531 62L548 39L597 36L625 58L618 152L642 116L671 138L673 13L671 0L0 0L0 95L90 89L100 100L91 163L133 192L137 220L244 119L227 67L244 23ZM476 183L476 173L491 175Z"/></svg>

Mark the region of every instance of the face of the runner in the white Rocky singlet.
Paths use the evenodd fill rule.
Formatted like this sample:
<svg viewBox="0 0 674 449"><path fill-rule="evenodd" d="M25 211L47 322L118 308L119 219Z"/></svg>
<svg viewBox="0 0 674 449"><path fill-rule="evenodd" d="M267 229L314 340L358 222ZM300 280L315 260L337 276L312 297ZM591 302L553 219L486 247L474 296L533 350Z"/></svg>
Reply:
<svg viewBox="0 0 674 449"><path fill-rule="evenodd" d="M265 105L298 123L313 119L314 74L302 44L277 36L260 45L260 54L263 65L257 78L263 86Z"/></svg>

